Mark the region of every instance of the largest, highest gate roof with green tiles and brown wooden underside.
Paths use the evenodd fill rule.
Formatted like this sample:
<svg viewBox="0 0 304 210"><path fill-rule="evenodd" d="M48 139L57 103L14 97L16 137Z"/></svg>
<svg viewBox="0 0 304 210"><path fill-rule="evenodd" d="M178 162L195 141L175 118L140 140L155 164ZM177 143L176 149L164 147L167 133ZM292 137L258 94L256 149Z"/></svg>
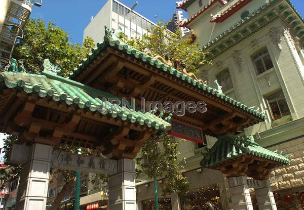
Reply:
<svg viewBox="0 0 304 210"><path fill-rule="evenodd" d="M125 96L132 95L135 98L143 97L147 101L158 101L160 98L173 102L203 99L208 105L207 113L202 115L195 113L193 115L196 116L193 118L191 116L178 117L178 120L203 127L203 129L208 130L205 133L211 136L222 135L229 130L235 133L243 127L249 127L265 119L264 113L224 95L220 88L213 89L200 79L123 43L119 40L118 32L113 34L108 28L105 31L104 41L98 43L87 58L73 69L73 72L69 74L70 79L89 86L100 86L100 83L109 85L111 83L111 86L115 87L114 89L118 89L118 94L123 96L125 93ZM110 59L113 60L111 64ZM112 66L112 69L107 69L107 66ZM111 76L109 76L110 71L114 72ZM133 75L134 77L132 77ZM126 77L129 77L128 81ZM138 92L134 93L134 88L128 89L130 86L135 86ZM180 97L181 95L183 97ZM235 123L233 128L222 129L220 116L223 120L228 119L227 117L233 119L231 120L232 123ZM177 116L174 117L177 118ZM216 121L212 121L212 119L216 119ZM211 127L216 125L217 128L210 129L208 124Z"/></svg>

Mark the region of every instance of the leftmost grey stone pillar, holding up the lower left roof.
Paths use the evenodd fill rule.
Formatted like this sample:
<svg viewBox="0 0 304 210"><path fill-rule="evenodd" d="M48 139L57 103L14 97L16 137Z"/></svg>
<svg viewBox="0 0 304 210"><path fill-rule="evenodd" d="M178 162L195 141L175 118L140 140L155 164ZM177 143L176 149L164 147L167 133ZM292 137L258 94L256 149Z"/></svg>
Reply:
<svg viewBox="0 0 304 210"><path fill-rule="evenodd" d="M16 209L44 210L47 204L53 147L33 144L29 161L22 166Z"/></svg>

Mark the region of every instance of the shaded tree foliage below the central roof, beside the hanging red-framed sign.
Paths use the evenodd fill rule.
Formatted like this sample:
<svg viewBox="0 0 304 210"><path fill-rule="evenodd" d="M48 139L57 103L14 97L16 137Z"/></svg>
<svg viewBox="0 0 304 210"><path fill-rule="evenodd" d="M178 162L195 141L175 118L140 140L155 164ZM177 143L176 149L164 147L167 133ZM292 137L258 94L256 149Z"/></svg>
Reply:
<svg viewBox="0 0 304 210"><path fill-rule="evenodd" d="M136 159L140 165L139 173L144 173L149 179L165 178L163 193L185 193L189 189L188 180L182 175L184 167L179 164L177 149L179 142L173 137L162 133L145 141L141 156ZM143 161L147 158L148 161Z"/></svg>

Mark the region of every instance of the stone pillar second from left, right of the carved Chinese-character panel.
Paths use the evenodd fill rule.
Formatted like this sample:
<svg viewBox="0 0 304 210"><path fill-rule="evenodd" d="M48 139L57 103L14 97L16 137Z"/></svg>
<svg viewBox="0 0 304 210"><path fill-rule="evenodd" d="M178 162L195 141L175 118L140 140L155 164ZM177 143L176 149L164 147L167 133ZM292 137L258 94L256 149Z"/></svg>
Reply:
<svg viewBox="0 0 304 210"><path fill-rule="evenodd" d="M135 163L118 160L117 174L109 177L110 210L136 210Z"/></svg>

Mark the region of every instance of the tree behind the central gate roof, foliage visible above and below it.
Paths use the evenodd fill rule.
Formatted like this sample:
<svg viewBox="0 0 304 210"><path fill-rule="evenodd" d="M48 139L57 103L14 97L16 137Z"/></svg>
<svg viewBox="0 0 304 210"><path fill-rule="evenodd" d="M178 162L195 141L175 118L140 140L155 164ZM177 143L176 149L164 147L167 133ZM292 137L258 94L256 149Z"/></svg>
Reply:
<svg viewBox="0 0 304 210"><path fill-rule="evenodd" d="M160 21L142 37L132 37L130 40L124 37L123 41L142 52L148 49L153 56L161 56L171 62L178 59L187 72L197 74L199 65L211 63L206 60L207 52L199 49L198 44L190 44L190 36L182 37L179 30L170 33L166 29L166 24ZM165 178L165 194L185 193L189 187L189 182L182 175L184 168L178 161L178 144L167 134L156 136L144 142L141 156L137 158L137 164L141 168L139 173L146 174L150 179ZM143 161L144 157L147 157L148 162Z"/></svg>

